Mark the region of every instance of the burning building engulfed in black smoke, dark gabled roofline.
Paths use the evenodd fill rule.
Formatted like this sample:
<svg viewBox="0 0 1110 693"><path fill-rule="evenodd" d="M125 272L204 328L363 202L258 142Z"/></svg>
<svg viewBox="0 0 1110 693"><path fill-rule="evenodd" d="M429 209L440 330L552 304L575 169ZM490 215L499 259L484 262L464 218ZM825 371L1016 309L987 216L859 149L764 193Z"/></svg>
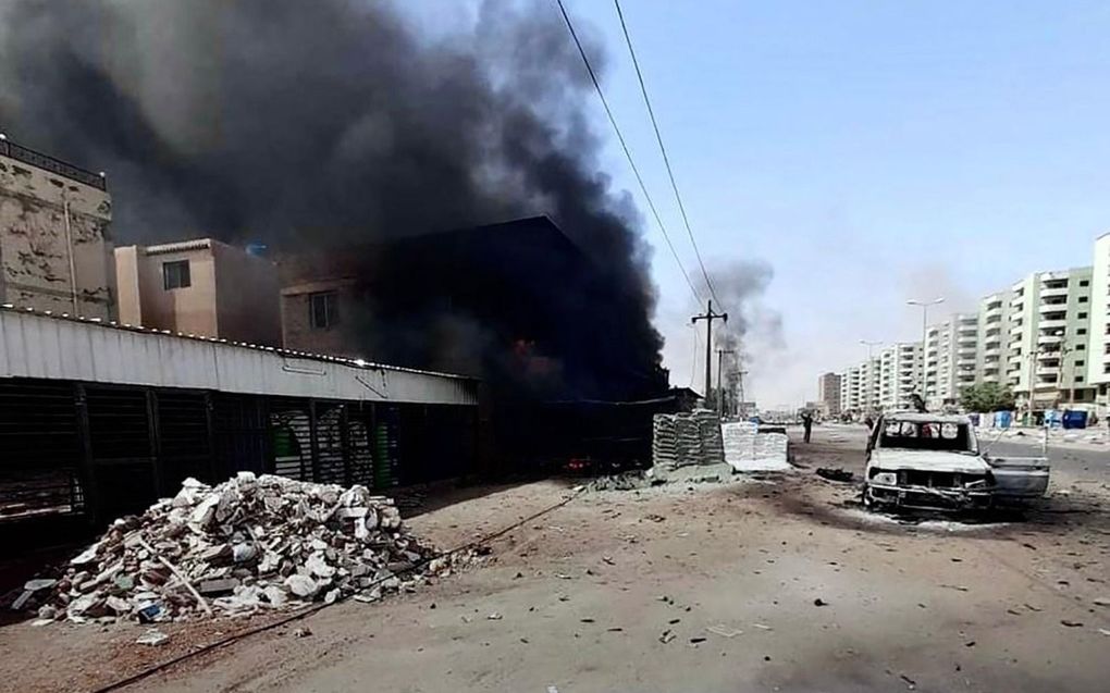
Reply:
<svg viewBox="0 0 1110 693"><path fill-rule="evenodd" d="M481 376L539 400L630 400L667 387L659 336L545 216L281 263L286 348Z"/></svg>

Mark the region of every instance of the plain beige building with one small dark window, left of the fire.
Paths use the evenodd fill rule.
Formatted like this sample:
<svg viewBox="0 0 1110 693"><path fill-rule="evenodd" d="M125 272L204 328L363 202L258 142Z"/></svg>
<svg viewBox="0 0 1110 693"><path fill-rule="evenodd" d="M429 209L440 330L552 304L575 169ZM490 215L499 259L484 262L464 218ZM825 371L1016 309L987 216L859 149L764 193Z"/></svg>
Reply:
<svg viewBox="0 0 1110 693"><path fill-rule="evenodd" d="M115 248L120 322L281 346L278 269L263 257L196 238Z"/></svg>

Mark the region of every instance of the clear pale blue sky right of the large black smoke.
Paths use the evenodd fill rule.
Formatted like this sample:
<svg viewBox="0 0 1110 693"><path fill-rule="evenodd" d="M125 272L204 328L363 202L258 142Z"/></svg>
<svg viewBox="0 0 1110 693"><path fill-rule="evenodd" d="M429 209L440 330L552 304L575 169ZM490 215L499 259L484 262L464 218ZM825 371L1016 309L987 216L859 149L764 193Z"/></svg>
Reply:
<svg viewBox="0 0 1110 693"><path fill-rule="evenodd" d="M693 271L614 7L566 1L605 47L606 93ZM917 338L907 298L973 307L1029 272L1089 264L1110 230L1110 3L623 8L707 264L775 269L759 303L785 344L749 344L764 406L815 397L819 373L862 358L860 338ZM603 164L636 191L594 106ZM693 299L654 223L645 233L666 361L688 385Z"/></svg>

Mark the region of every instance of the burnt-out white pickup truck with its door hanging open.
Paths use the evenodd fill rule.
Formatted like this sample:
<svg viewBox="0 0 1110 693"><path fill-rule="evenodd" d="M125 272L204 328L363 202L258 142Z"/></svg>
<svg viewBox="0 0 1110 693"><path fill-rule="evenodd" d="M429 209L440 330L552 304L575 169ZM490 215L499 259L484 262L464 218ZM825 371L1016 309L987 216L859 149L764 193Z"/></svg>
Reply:
<svg viewBox="0 0 1110 693"><path fill-rule="evenodd" d="M864 505L986 509L1043 496L1048 475L1042 457L980 452L965 416L891 412L879 417L867 441Z"/></svg>

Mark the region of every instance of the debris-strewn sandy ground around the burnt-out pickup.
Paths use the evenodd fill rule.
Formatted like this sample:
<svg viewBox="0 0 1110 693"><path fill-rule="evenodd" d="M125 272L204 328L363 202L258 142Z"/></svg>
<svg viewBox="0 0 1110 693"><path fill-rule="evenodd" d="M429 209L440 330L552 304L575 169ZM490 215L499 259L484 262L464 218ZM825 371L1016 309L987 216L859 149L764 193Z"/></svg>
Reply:
<svg viewBox="0 0 1110 693"><path fill-rule="evenodd" d="M1020 519L904 524L813 473L859 470L862 445L858 430L817 428L794 472L583 493L493 542L481 568L337 604L127 690L1106 691L1107 479L1059 471ZM484 491L410 521L454 546L569 492ZM139 626L8 625L0 689L94 690L260 623L167 629L157 649L131 644ZM312 634L296 638L302 626Z"/></svg>

